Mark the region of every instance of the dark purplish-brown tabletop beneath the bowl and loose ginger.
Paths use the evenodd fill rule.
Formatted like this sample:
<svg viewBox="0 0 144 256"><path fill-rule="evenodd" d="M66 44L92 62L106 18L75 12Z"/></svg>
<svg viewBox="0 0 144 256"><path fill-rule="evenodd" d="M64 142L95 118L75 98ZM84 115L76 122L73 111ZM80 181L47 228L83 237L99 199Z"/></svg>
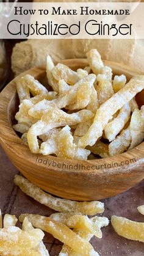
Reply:
<svg viewBox="0 0 144 256"><path fill-rule="evenodd" d="M0 147L0 207L2 213L15 214L16 217L21 213L34 213L49 216L54 213L53 210L41 205L31 197L26 196L13 183L15 174L18 170L10 162ZM118 196L103 200L105 211L100 216L110 217L115 214L123 216L133 221L144 222L144 216L137 211L139 205L144 204L144 180L134 188L129 189ZM62 243L54 239L51 235L46 234L44 238L46 247L51 256L59 255ZM103 238L93 237L91 243L99 255L113 256L142 256L144 255L144 243L131 241L113 231L112 226L103 228Z"/></svg>

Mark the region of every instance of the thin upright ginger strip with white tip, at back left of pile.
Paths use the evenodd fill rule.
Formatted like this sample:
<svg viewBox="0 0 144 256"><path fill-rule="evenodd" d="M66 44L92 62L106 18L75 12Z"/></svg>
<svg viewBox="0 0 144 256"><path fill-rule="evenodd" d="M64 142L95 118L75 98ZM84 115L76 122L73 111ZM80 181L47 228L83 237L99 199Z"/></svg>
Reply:
<svg viewBox="0 0 144 256"><path fill-rule="evenodd" d="M48 84L49 84L49 86L52 87L52 89L55 92L59 92L58 81L52 75L53 68L54 68L54 63L53 63L51 57L48 55L46 58L46 76L48 79Z"/></svg>

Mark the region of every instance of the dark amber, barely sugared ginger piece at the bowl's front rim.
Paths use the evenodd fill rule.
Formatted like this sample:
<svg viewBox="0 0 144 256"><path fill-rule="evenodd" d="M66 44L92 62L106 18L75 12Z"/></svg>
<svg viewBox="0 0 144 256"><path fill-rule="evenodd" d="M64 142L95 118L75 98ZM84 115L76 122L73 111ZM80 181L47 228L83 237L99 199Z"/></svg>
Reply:
<svg viewBox="0 0 144 256"><path fill-rule="evenodd" d="M101 158L107 158L109 156L109 146L101 141L97 141L92 147L87 146L87 149L93 154L101 156Z"/></svg>

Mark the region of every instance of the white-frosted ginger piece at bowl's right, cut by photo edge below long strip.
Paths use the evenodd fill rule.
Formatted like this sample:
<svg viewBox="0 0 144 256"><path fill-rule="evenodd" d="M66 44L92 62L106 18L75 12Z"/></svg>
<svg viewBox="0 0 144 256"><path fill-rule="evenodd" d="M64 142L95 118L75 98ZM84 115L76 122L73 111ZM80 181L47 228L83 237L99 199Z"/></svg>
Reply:
<svg viewBox="0 0 144 256"><path fill-rule="evenodd" d="M137 147L144 139L144 106L141 109L135 109L132 113L129 125L131 133L131 145L129 149Z"/></svg>

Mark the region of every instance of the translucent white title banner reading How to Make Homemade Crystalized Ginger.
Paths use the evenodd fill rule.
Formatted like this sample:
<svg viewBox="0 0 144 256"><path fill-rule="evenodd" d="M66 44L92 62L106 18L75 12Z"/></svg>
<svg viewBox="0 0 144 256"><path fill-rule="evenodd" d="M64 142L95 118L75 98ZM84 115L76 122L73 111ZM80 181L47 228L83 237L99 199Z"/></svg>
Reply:
<svg viewBox="0 0 144 256"><path fill-rule="evenodd" d="M0 3L0 38L144 38L144 3Z"/></svg>

